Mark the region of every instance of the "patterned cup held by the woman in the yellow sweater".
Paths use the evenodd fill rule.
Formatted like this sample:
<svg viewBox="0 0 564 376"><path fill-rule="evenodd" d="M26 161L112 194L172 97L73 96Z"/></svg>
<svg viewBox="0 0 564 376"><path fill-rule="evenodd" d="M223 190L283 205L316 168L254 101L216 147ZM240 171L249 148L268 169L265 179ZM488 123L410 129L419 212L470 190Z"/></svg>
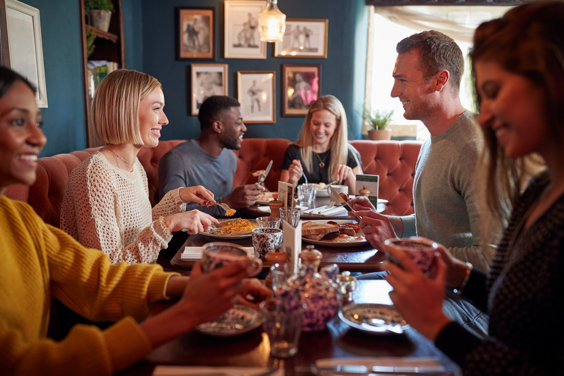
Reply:
<svg viewBox="0 0 564 376"><path fill-rule="evenodd" d="M262 260L249 255L236 244L226 242L204 244L202 246L202 271L204 273L211 273L217 268L244 260L245 258L252 260L252 264L247 269L249 277L254 277L262 271Z"/></svg>

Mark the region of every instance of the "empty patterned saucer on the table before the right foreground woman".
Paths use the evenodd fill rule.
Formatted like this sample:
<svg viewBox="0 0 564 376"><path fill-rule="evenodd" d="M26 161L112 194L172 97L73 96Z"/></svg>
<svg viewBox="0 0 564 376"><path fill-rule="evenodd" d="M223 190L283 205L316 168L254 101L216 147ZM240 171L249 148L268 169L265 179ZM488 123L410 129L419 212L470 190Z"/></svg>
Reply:
<svg viewBox="0 0 564 376"><path fill-rule="evenodd" d="M409 324L407 324L406 321L403 320L402 315L399 314L395 307L388 306L386 304L347 304L339 311L339 317L343 322L345 322L345 324L351 326L352 328L369 334L389 335L397 333L387 330L385 327L365 324L362 322L363 319L382 319L395 321L402 324L402 326L400 326L402 330L410 328Z"/></svg>

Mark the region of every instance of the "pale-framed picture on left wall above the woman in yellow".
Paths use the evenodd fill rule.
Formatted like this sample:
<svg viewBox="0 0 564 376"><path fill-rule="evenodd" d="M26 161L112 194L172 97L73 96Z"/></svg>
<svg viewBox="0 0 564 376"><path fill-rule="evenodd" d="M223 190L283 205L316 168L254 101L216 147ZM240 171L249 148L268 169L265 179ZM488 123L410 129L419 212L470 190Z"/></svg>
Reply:
<svg viewBox="0 0 564 376"><path fill-rule="evenodd" d="M36 89L37 107L47 107L45 67L41 43L39 10L16 0L6 0L6 14L2 12L3 64L25 77Z"/></svg>

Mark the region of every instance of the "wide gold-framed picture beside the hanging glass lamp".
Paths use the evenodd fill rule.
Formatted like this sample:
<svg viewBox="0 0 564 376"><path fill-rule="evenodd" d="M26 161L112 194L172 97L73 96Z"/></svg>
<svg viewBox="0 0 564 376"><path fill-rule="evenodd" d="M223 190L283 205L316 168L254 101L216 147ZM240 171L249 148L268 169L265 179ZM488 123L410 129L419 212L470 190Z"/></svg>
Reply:
<svg viewBox="0 0 564 376"><path fill-rule="evenodd" d="M286 19L284 39L274 44L274 56L327 59L328 25L329 20Z"/></svg>

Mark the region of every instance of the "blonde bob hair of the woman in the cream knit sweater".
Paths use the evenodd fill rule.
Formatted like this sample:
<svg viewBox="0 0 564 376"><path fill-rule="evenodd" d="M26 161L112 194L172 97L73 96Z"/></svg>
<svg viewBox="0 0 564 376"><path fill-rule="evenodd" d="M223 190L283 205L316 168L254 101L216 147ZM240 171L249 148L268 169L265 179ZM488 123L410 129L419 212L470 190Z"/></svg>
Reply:
<svg viewBox="0 0 564 376"><path fill-rule="evenodd" d="M139 131L139 103L161 87L155 77L117 69L102 79L92 100L92 123L107 144L144 145Z"/></svg>

